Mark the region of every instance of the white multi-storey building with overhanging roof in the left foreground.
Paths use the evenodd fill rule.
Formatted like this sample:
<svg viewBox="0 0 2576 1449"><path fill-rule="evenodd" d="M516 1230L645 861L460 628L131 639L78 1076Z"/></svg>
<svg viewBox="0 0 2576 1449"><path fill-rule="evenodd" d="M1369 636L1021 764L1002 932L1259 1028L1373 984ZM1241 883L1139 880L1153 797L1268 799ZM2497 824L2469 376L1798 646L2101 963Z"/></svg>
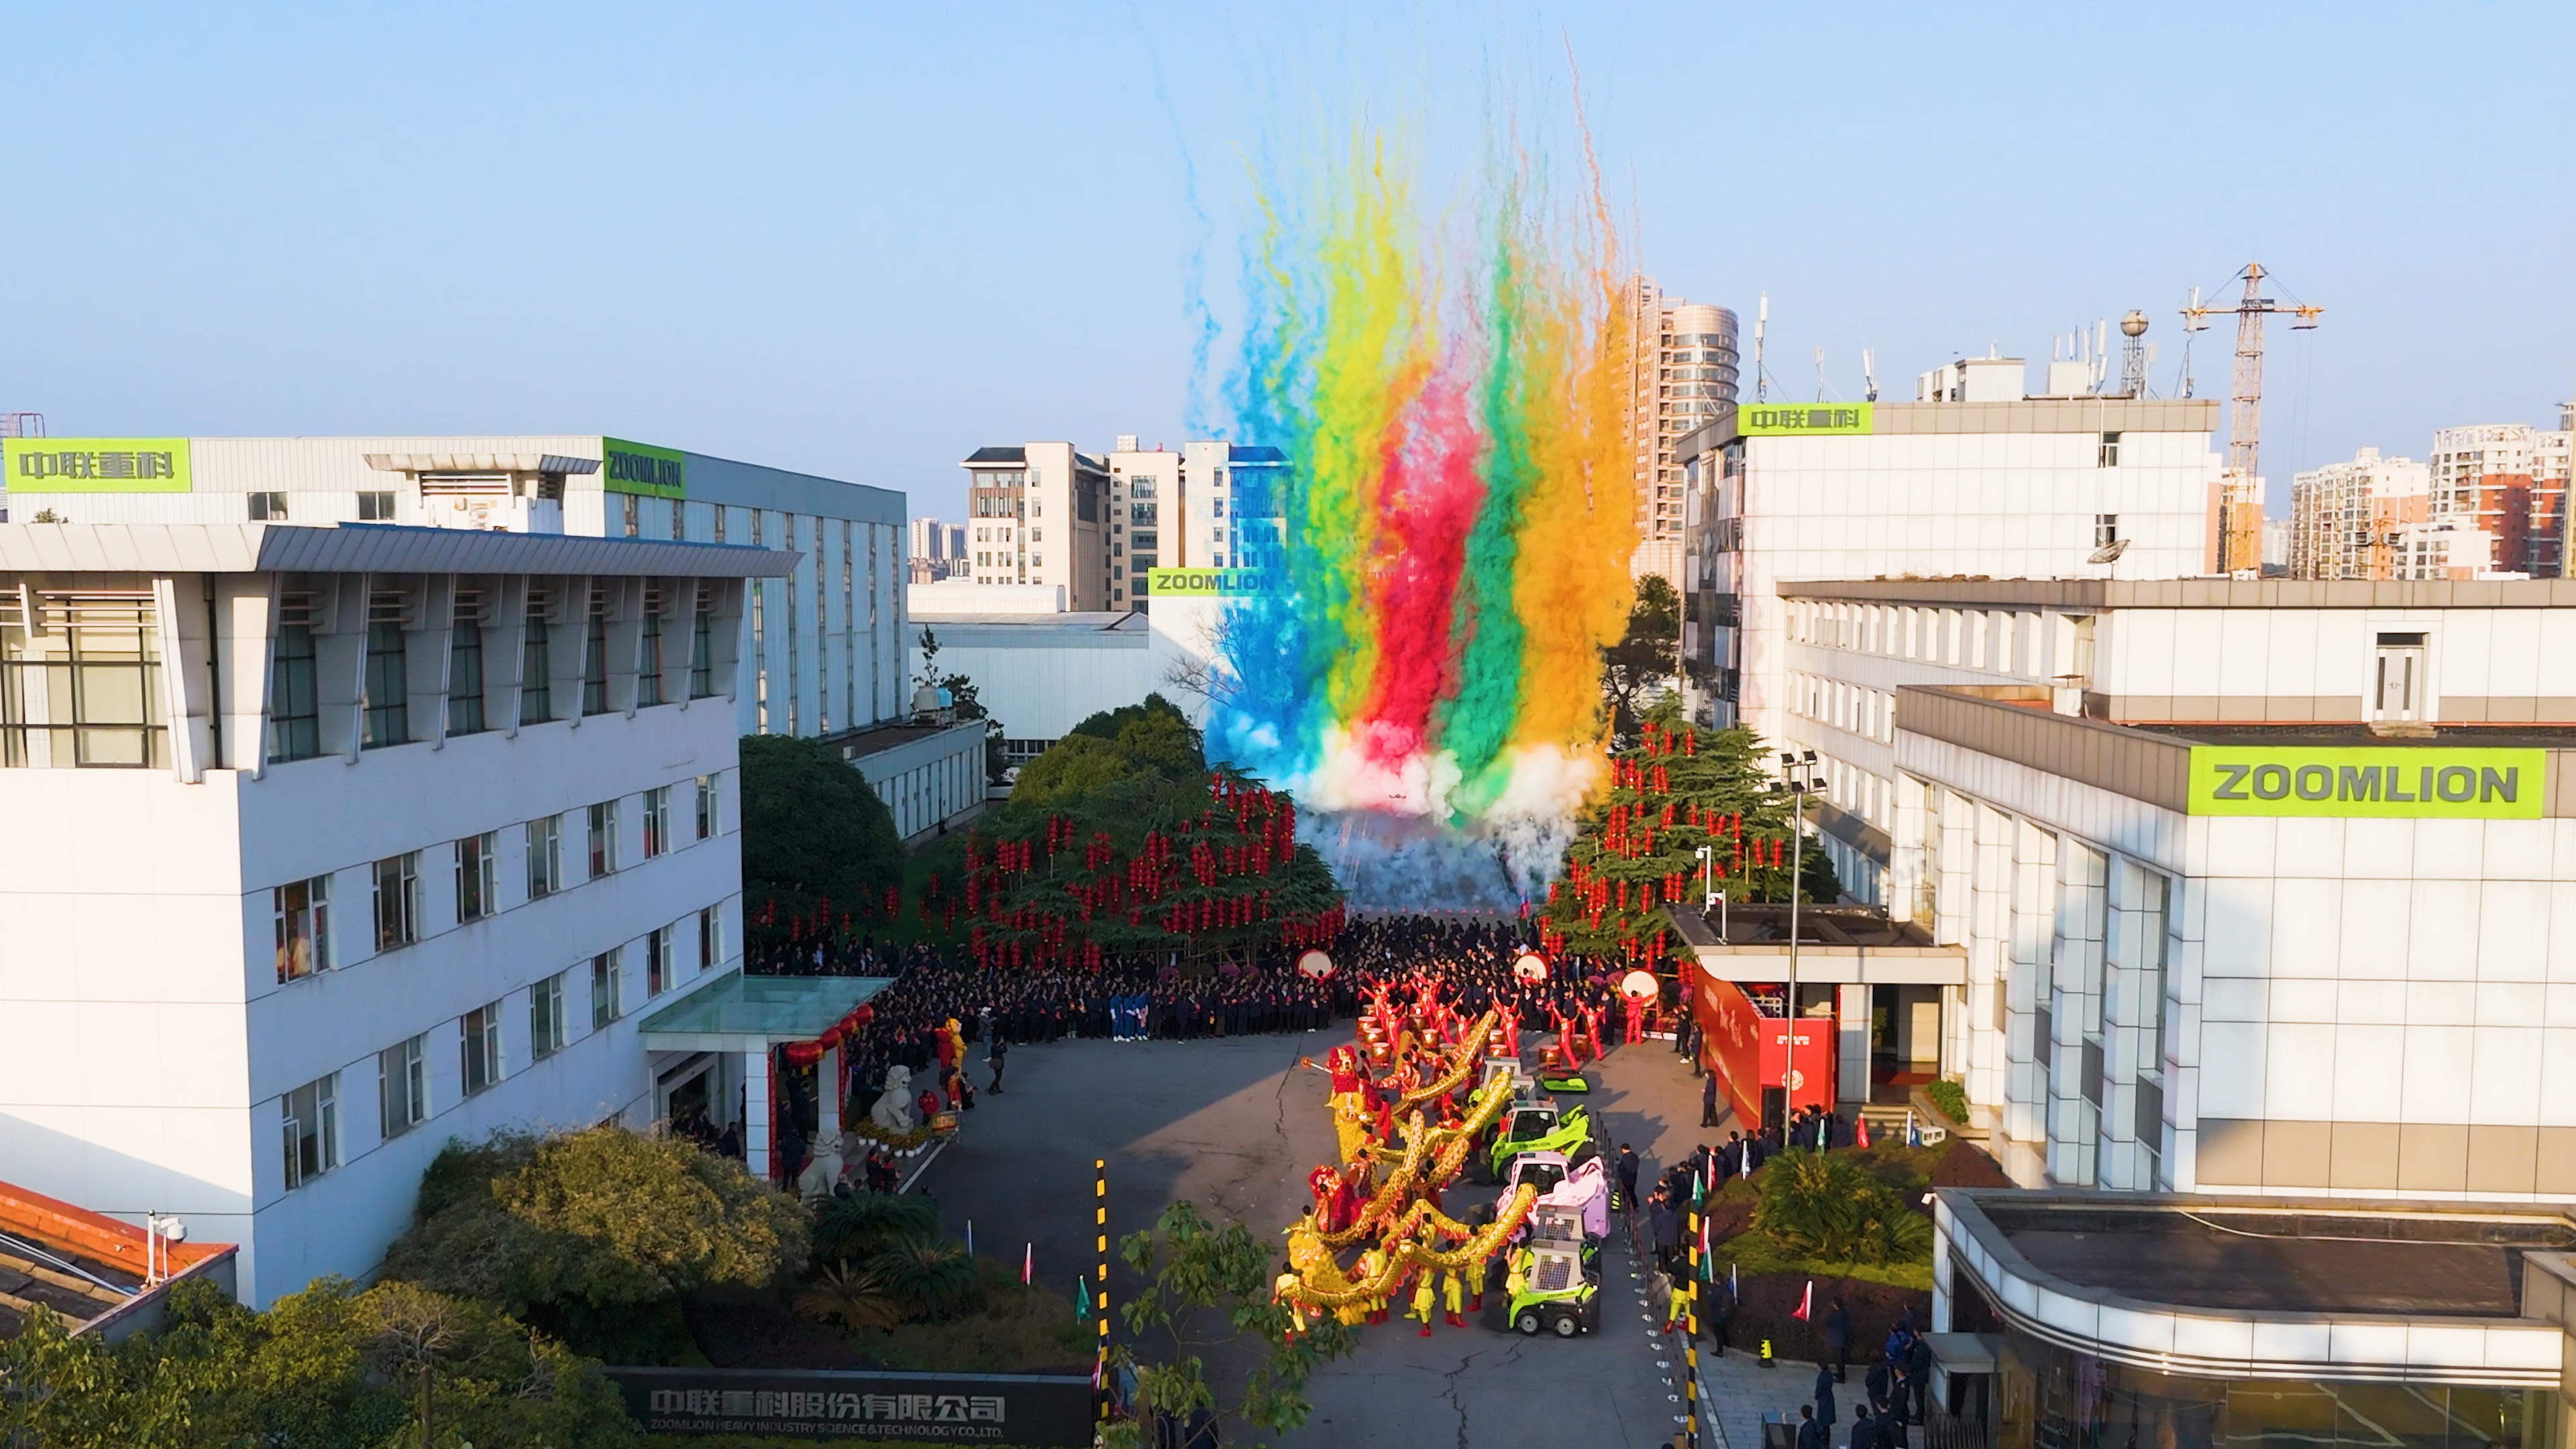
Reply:
<svg viewBox="0 0 2576 1449"><path fill-rule="evenodd" d="M198 503L240 503L209 472ZM44 825L0 841L10 1181L237 1243L265 1305L368 1274L448 1140L675 1101L732 1122L750 1091L765 1152L760 1057L639 1024L739 980L742 619L809 567L417 523L0 526L0 815Z"/></svg>

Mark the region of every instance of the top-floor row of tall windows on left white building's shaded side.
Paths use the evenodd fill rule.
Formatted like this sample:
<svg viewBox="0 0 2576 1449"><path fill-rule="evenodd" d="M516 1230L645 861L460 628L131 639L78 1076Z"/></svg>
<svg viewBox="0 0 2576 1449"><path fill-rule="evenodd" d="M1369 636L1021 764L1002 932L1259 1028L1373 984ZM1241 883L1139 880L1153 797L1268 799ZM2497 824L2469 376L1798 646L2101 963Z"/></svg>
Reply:
<svg viewBox="0 0 2576 1449"><path fill-rule="evenodd" d="M399 603L392 603L389 596L379 596L376 608L392 611L399 608ZM448 629L448 735L479 735L492 727L484 699L487 627L479 614L466 614L466 608L479 606L461 603L459 616ZM546 608L544 598L531 598L528 608L531 614L520 634L518 673L523 683L518 691L518 722L544 724L562 717L554 701L554 637L572 629L572 624L549 624L541 616ZM639 709L670 704L675 699L670 683L677 681L667 681L665 676L662 624L662 614L657 608L647 608L634 657ZM688 670L688 696L708 699L716 694L714 614L703 606L693 608L690 629L693 655ZM410 634L412 632L402 619L376 619L366 627L366 686L358 732L358 745L363 750L410 745L428 737L412 717ZM270 655L268 761L309 761L322 753L322 691L312 624L278 624ZM585 717L608 714L608 616L600 603L592 606L582 629L580 712Z"/></svg>

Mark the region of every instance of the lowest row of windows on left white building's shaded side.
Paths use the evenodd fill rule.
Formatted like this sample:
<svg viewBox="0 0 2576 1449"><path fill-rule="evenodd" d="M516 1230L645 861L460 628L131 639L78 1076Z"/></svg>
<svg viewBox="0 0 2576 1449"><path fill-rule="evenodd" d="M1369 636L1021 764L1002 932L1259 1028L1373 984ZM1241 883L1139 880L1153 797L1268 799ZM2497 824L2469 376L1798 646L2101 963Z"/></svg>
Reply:
<svg viewBox="0 0 2576 1449"><path fill-rule="evenodd" d="M724 908L698 910L698 969L724 959ZM644 998L652 1000L677 985L675 944L685 923L657 926L644 933ZM456 1018L456 1093L479 1096L513 1070L544 1062L572 1039L569 990L574 975L590 977L590 1029L605 1031L626 1016L623 1000L623 946L600 951L587 972L554 972L526 990L523 1065L513 1065L507 1042L510 998L489 1000ZM515 993L513 993L515 995ZM404 1036L376 1052L376 1127L381 1140L394 1140L435 1116L430 1101L430 1052L438 1031ZM340 1165L340 1075L325 1073L278 1096L278 1129L286 1152L286 1189L294 1191Z"/></svg>

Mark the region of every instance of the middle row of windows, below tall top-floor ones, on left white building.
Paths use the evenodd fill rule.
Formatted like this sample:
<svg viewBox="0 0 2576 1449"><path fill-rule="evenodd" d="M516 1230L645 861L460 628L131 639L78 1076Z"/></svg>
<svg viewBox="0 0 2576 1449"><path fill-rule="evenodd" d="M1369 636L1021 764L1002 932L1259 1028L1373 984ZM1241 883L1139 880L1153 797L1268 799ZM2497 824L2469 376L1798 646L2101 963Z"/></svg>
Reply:
<svg viewBox="0 0 2576 1449"><path fill-rule="evenodd" d="M672 786L659 786L641 794L644 859L662 856L677 843L672 835L670 792ZM693 841L706 841L721 830L721 781L716 776L696 779ZM603 799L580 812L587 830L585 879L603 879L618 871L621 804L621 799ZM564 817L546 815L544 820L528 820L520 830L526 838L523 900L544 900L564 890ZM448 846L448 856L456 871L456 926L500 913L500 833L466 835ZM376 951L397 951L422 938L425 905L420 871L422 851L404 851L368 866ZM340 962L335 949L332 877L319 874L273 887L270 913L276 923L278 985L327 972Z"/></svg>

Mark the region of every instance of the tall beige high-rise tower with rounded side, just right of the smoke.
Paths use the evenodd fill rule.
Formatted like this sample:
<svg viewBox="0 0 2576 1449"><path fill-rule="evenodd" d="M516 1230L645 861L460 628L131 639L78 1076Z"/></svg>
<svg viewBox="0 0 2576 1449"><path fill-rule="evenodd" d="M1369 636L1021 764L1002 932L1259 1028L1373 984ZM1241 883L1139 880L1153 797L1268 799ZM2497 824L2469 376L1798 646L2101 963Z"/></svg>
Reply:
<svg viewBox="0 0 2576 1449"><path fill-rule="evenodd" d="M1736 405L1736 315L1664 297L1646 276L1628 291L1628 454L1638 547L1631 572L1682 588L1687 503L1674 449Z"/></svg>

